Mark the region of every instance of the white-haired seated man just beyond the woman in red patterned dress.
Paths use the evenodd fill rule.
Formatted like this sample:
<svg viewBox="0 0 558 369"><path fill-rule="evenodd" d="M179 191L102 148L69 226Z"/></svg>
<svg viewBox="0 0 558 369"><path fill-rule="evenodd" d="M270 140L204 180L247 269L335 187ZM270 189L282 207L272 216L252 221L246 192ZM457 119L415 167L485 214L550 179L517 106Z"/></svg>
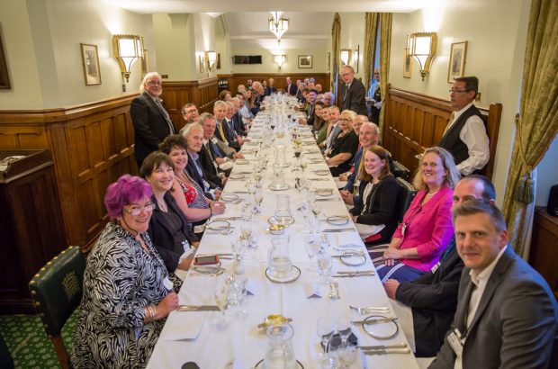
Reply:
<svg viewBox="0 0 558 369"><path fill-rule="evenodd" d="M203 189L203 193L213 200L219 200L222 181L219 175L206 172L202 168L199 152L203 145L203 129L199 123L193 123L184 130L184 139L188 143L188 165L186 172Z"/></svg>

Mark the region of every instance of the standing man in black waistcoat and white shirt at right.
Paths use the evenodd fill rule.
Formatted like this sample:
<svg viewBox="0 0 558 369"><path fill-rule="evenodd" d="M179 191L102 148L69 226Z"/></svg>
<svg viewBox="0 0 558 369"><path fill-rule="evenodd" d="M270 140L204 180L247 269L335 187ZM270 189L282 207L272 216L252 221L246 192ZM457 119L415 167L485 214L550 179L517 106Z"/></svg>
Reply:
<svg viewBox="0 0 558 369"><path fill-rule="evenodd" d="M438 146L454 156L462 175L470 175L486 166L491 155L481 112L473 105L479 91L479 79L476 76L455 78L449 91L454 112Z"/></svg>

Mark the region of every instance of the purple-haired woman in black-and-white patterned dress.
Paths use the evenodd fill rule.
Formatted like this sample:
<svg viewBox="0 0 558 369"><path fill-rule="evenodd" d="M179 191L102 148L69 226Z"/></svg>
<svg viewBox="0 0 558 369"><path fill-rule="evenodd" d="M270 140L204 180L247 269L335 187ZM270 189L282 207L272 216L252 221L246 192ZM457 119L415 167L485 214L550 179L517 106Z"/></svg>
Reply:
<svg viewBox="0 0 558 369"><path fill-rule="evenodd" d="M151 187L122 175L109 185L108 223L87 258L71 363L76 368L142 368L178 306L166 267L148 237Z"/></svg>

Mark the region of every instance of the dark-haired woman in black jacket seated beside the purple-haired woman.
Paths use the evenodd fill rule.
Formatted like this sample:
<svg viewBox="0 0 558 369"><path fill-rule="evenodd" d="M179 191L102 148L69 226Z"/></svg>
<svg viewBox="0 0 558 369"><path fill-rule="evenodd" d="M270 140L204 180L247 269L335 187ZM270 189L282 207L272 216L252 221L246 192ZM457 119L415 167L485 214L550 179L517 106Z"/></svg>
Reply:
<svg viewBox="0 0 558 369"><path fill-rule="evenodd" d="M193 260L199 239L195 237L184 213L169 191L175 182L175 166L170 157L154 151L143 161L140 174L151 185L155 204L148 234L165 262L169 273L175 269L187 270Z"/></svg>

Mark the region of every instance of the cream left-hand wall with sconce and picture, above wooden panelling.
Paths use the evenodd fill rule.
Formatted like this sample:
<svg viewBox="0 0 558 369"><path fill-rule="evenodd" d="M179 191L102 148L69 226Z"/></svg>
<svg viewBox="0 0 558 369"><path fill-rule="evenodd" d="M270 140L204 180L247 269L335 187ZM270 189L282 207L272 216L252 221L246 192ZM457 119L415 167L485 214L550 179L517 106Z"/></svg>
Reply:
<svg viewBox="0 0 558 369"><path fill-rule="evenodd" d="M2 2L0 14L13 85L2 93L0 109L68 107L123 94L112 34L142 35L146 49L153 44L150 16L94 0ZM80 43L97 45L101 85L85 85ZM134 62L128 93L140 80Z"/></svg>

